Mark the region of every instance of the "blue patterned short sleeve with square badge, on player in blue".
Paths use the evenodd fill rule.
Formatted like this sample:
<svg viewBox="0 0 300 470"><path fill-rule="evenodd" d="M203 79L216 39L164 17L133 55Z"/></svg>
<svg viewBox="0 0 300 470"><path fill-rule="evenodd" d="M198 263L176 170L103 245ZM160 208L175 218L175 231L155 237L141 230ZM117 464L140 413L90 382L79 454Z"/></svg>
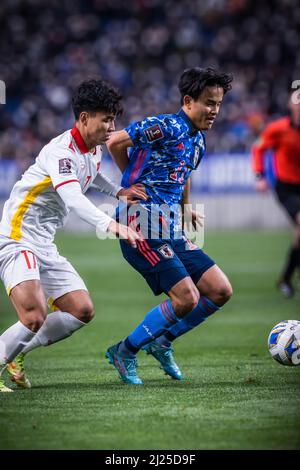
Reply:
<svg viewBox="0 0 300 470"><path fill-rule="evenodd" d="M174 136L172 121L166 116L154 116L134 122L126 127L134 146L154 147L171 140Z"/></svg>

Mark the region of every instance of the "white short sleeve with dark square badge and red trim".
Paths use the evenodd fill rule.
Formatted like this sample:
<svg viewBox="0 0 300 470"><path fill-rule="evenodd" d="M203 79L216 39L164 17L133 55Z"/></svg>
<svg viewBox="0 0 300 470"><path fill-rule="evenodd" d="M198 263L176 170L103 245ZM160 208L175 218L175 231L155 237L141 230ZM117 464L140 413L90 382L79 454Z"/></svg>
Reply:
<svg viewBox="0 0 300 470"><path fill-rule="evenodd" d="M78 157L69 149L50 147L45 166L54 189L69 182L79 182Z"/></svg>

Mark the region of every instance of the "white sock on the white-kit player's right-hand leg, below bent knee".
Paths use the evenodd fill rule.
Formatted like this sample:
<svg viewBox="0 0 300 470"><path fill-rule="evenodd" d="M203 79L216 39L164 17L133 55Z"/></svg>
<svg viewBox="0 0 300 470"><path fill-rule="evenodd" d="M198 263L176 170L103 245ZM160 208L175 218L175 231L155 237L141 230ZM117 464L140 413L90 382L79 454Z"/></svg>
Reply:
<svg viewBox="0 0 300 470"><path fill-rule="evenodd" d="M28 353L39 346L49 346L50 344L57 343L57 341L71 336L74 331L79 330L79 328L85 325L86 323L78 320L78 318L70 313L61 312L60 310L49 313L42 327L30 343L25 346L22 353Z"/></svg>

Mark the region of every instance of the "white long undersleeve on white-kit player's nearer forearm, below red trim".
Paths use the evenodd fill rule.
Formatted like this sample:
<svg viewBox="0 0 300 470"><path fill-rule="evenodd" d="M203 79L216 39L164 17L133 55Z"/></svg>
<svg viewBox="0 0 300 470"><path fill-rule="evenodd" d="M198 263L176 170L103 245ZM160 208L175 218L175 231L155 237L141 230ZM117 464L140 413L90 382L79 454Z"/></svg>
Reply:
<svg viewBox="0 0 300 470"><path fill-rule="evenodd" d="M69 210L73 210L85 222L97 227L101 232L106 232L111 217L98 209L89 199L82 194L80 184L59 184L57 192Z"/></svg>

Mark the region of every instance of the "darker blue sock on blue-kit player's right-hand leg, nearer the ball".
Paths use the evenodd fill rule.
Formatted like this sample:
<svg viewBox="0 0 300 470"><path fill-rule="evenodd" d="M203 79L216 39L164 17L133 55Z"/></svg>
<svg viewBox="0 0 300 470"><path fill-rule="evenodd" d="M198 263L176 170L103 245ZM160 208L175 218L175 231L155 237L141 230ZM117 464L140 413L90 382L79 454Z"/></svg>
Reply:
<svg viewBox="0 0 300 470"><path fill-rule="evenodd" d="M207 297L201 297L197 307L176 323L176 325L171 326L163 336L157 339L157 342L161 346L169 346L174 339L192 330L195 326L200 325L207 317L219 309L220 307Z"/></svg>

